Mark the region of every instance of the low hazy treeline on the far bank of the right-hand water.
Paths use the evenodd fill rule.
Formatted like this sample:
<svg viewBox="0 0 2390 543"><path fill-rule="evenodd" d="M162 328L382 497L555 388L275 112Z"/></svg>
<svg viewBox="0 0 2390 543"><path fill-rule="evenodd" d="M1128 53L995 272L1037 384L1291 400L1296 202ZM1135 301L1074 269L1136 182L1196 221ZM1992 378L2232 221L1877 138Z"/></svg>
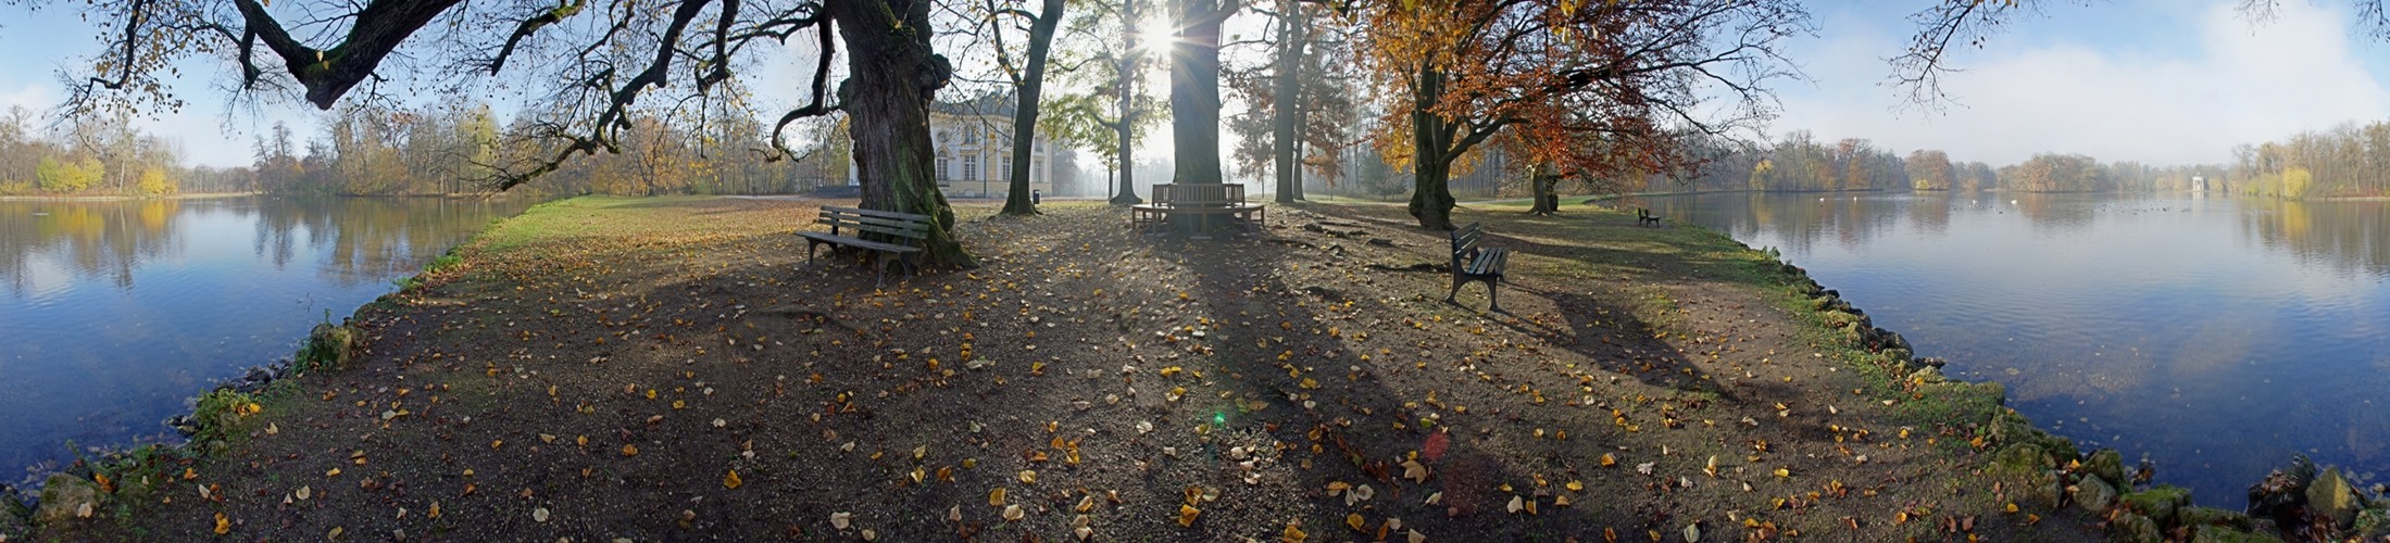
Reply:
<svg viewBox="0 0 2390 543"><path fill-rule="evenodd" d="M1907 158L1867 139L1824 144L1809 132L1790 132L1764 146L1721 139L1695 141L1706 158L1687 177L1654 177L1647 189L1692 191L2189 191L2225 189L2220 165L2101 163L2089 155L2041 153L1993 167L1955 163L1936 148Z"/></svg>

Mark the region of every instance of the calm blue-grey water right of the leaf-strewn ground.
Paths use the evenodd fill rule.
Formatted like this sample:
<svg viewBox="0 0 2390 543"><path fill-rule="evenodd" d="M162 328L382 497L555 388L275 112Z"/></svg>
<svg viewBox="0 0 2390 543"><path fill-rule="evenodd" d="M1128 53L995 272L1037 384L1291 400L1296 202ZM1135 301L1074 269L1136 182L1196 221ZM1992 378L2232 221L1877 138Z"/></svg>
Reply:
<svg viewBox="0 0 2390 543"><path fill-rule="evenodd" d="M2292 452L2390 476L2390 203L2201 194L1651 199L1785 261L1967 380L2239 507ZM2089 450L2089 447L2086 447Z"/></svg>

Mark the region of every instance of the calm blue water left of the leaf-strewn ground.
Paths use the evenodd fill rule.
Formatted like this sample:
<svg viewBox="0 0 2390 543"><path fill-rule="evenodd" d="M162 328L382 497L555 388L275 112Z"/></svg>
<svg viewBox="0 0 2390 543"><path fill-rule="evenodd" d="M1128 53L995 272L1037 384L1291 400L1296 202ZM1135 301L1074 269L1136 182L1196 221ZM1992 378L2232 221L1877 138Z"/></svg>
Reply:
<svg viewBox="0 0 2390 543"><path fill-rule="evenodd" d="M526 199L0 201L0 483L289 356Z"/></svg>

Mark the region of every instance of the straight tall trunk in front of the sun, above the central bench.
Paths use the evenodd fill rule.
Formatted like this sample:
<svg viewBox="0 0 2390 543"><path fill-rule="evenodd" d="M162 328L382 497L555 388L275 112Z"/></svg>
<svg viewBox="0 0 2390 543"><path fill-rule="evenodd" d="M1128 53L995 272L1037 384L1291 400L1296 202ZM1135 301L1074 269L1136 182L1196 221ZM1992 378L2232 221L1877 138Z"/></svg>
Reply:
<svg viewBox="0 0 2390 543"><path fill-rule="evenodd" d="M1171 45L1171 136L1176 184L1219 184L1219 24L1221 0L1178 0Z"/></svg>

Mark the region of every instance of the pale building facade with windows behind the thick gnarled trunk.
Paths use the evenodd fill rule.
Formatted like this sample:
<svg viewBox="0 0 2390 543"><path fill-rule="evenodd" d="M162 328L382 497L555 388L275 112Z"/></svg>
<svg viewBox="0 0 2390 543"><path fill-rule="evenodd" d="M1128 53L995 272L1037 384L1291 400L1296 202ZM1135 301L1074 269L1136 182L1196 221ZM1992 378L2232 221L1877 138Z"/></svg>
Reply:
<svg viewBox="0 0 2390 543"><path fill-rule="evenodd" d="M1013 96L987 93L963 103L930 103L932 172L946 199L1004 199L1013 175L1025 175L1032 191L1054 196L1054 170L1061 148L1044 136L1030 146L1030 170L1013 172ZM846 184L860 184L848 163Z"/></svg>

